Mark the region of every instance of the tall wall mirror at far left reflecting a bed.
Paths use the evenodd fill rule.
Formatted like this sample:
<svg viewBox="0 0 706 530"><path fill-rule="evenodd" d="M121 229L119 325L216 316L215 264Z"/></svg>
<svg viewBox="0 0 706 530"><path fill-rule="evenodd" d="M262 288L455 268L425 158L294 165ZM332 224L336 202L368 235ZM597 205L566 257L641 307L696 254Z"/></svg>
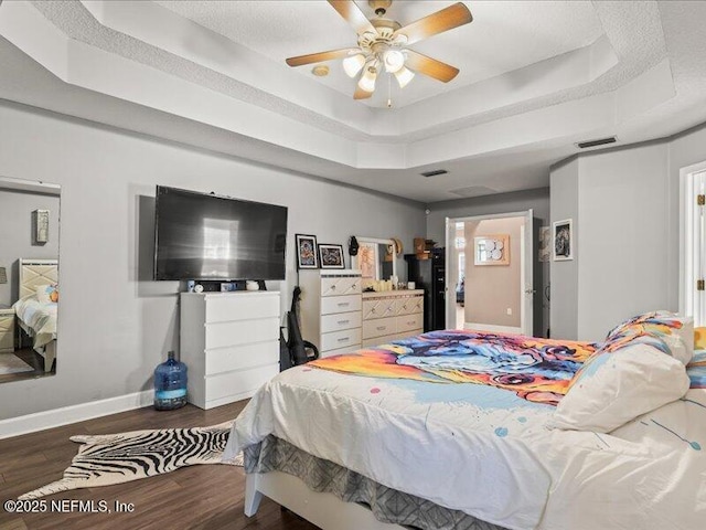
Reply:
<svg viewBox="0 0 706 530"><path fill-rule="evenodd" d="M60 200L0 177L0 383L56 373Z"/></svg>

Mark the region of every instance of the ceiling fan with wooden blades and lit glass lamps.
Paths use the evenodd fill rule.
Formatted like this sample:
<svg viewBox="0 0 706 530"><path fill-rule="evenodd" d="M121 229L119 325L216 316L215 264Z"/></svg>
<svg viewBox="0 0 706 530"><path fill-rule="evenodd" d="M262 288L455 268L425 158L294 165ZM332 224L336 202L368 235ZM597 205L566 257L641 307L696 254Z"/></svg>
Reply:
<svg viewBox="0 0 706 530"><path fill-rule="evenodd" d="M289 66L342 59L343 70L349 77L355 77L362 71L353 95L355 99L365 99L373 95L375 81L383 71L394 75L402 88L407 86L415 73L428 75L443 83L448 83L459 73L458 68L407 46L471 22L473 17L462 2L402 26L399 22L385 18L392 0L368 0L367 3L377 15L372 20L363 14L353 0L328 1L355 29L357 47L289 57Z"/></svg>

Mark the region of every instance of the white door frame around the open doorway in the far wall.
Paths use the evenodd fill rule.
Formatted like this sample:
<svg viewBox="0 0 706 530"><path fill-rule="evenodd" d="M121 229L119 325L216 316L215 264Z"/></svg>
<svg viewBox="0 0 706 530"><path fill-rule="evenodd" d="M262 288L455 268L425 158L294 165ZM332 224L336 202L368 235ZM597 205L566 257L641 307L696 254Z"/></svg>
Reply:
<svg viewBox="0 0 706 530"><path fill-rule="evenodd" d="M460 218L446 218L446 327L451 328L451 318L456 318L456 284L458 283L458 274L451 273L451 265L457 266L457 259L451 259L454 251L456 240L456 224L464 223L467 221L488 221L492 219L505 219L505 218L525 218L525 224L521 230L520 242L520 332L526 336L533 336L534 327L534 262L533 257L533 209L523 210L518 212L507 213L491 213L484 215L464 215ZM527 248L528 247L528 248ZM469 248L469 242L466 243L466 248ZM472 257L472 256L471 256ZM469 259L467 254L466 259ZM468 262L467 262L468 263ZM449 294L449 286L451 279L456 279L453 283L452 296ZM486 325L485 329L489 331L516 331L516 328L505 328L502 326Z"/></svg>

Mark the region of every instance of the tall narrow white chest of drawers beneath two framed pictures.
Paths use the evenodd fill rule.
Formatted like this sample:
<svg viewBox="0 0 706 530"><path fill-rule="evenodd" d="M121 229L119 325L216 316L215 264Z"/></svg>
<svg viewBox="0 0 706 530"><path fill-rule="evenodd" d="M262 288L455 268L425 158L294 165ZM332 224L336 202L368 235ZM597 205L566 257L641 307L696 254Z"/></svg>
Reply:
<svg viewBox="0 0 706 530"><path fill-rule="evenodd" d="M361 348L361 272L300 271L301 332L320 357Z"/></svg>

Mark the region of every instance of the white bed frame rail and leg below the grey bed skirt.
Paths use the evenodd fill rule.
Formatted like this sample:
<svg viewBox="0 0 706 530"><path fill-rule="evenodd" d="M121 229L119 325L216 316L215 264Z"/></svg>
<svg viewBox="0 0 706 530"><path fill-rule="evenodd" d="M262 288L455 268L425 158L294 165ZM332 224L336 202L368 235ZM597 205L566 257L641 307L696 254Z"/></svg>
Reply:
<svg viewBox="0 0 706 530"><path fill-rule="evenodd" d="M263 496L303 517L322 530L405 530L399 524L381 522L373 512L355 502L345 502L333 494L312 491L299 478L282 473L253 473L245 478L245 515L257 512Z"/></svg>

